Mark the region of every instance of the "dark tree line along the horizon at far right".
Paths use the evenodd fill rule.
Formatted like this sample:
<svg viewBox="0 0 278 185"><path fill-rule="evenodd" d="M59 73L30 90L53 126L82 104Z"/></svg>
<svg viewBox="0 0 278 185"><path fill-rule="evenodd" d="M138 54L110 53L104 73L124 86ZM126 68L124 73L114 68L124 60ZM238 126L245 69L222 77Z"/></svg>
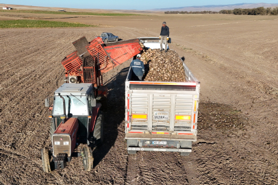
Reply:
<svg viewBox="0 0 278 185"><path fill-rule="evenodd" d="M236 14L236 15L278 15L277 8L236 8L233 10L220 10L219 12L214 11L199 11L199 12L188 12L188 11L167 11L165 14Z"/></svg>

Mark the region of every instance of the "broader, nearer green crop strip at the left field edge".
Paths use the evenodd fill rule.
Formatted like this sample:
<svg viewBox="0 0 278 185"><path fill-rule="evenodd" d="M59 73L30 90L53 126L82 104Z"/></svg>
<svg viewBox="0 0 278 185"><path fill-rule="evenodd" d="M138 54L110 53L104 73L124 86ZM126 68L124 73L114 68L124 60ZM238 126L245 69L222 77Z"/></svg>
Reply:
<svg viewBox="0 0 278 185"><path fill-rule="evenodd" d="M0 21L0 28L18 28L18 27L94 27L95 25L84 25L80 23L66 23L58 21L40 21L40 20L11 20Z"/></svg>

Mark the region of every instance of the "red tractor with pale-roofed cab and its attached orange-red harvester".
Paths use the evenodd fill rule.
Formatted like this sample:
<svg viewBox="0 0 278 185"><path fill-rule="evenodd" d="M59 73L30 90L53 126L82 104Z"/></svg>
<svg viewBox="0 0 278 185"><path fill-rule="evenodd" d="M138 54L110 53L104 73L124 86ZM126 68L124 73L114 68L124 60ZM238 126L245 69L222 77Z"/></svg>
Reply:
<svg viewBox="0 0 278 185"><path fill-rule="evenodd" d="M77 51L62 60L66 83L55 90L52 114L51 147L42 148L45 172L64 169L72 157L81 156L85 171L92 169L92 148L103 141L103 114L99 99L105 99L103 73L136 56L142 48L139 40L103 43L101 38L88 42L85 37L73 42ZM81 147L79 147L81 146Z"/></svg>

